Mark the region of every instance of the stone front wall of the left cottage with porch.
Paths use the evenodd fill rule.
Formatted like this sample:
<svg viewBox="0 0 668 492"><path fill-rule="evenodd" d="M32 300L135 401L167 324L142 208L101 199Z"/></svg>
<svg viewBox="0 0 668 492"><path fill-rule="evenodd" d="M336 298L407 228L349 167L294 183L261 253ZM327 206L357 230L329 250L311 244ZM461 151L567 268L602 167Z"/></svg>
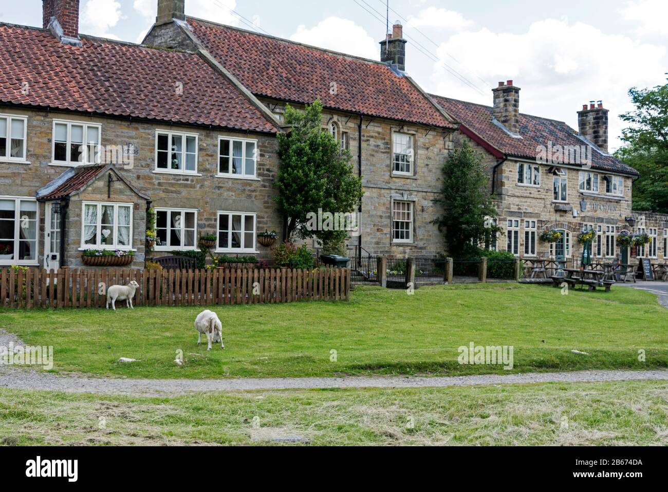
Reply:
<svg viewBox="0 0 668 492"><path fill-rule="evenodd" d="M134 145L137 154L134 156L132 168L120 164L116 166L118 172L124 176L141 193L148 195L153 207L183 208L198 210L198 235L216 233L217 211L239 211L257 213L257 231L265 229L275 230L281 234L283 221L276 212L273 202L275 197L275 180L278 168L277 141L274 136L251 134L246 132L230 132L193 126L169 126L164 124L150 124L117 118L101 118L78 116L69 113L45 112L41 110L24 110L18 108L0 108L2 114L28 116L27 126L27 163L17 164L0 162L0 196L35 197L38 189L69 169L67 166L51 164L53 138L53 120L71 120L75 122L102 124L102 146ZM186 132L198 134L198 174L159 174L155 170L156 130L170 130L172 132ZM218 137L228 136L257 140L257 180L217 177L218 166ZM106 198L107 176L100 176L100 186L104 187L103 201L115 201ZM96 183L98 186L98 183ZM120 183L114 183L114 191ZM85 194L84 194L85 195ZM117 201L117 200L116 200ZM135 197L134 203L140 201ZM144 230L144 205L137 205L139 210L134 215L135 242L134 249L138 250L135 266L141 266L143 261L143 237L137 236ZM71 213L80 205L72 204ZM44 253L44 213L45 207L39 205L40 231L39 262L43 265ZM75 265L80 261L79 243L74 237L79 237L81 225L79 215L73 215L68 222L67 253L65 265ZM141 221L142 224L138 224ZM143 234L143 233L142 233ZM257 244L256 255L260 259L271 259L271 251ZM165 255L168 253L155 253ZM227 253L230 254L230 253ZM246 254L246 253L241 253ZM62 264L62 263L61 263Z"/></svg>

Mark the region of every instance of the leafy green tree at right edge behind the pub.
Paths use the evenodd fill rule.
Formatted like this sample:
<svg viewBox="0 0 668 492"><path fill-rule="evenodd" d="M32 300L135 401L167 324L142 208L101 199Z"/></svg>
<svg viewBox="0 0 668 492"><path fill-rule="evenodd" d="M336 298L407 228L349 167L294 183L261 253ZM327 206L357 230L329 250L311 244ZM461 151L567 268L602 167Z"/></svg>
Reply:
<svg viewBox="0 0 668 492"><path fill-rule="evenodd" d="M668 84L631 88L633 111L621 115L625 146L615 156L640 172L633 183L633 209L668 213Z"/></svg>

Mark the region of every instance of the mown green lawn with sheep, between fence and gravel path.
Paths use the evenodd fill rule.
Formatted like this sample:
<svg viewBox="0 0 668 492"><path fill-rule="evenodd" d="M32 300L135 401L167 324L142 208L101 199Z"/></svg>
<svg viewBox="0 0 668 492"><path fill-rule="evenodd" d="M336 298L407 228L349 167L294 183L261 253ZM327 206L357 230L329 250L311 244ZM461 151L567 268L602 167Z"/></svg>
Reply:
<svg viewBox="0 0 668 492"><path fill-rule="evenodd" d="M196 345L197 307L1 310L0 328L53 346L55 370L131 378L479 374L668 366L655 295L519 284L365 287L351 301L218 306L226 350ZM458 364L458 347L514 346L514 370ZM646 361L639 362L638 351ZM182 350L184 364L174 364ZM337 360L332 362L331 350ZM572 350L588 352L575 354ZM139 359L118 364L120 357Z"/></svg>

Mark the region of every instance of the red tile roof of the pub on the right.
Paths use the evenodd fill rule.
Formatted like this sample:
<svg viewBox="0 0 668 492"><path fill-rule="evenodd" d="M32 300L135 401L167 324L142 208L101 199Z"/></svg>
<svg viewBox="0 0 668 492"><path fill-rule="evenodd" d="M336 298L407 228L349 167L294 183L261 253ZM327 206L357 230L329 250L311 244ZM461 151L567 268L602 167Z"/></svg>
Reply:
<svg viewBox="0 0 668 492"><path fill-rule="evenodd" d="M520 136L522 138L514 138L492 122L493 108L491 106L482 106L482 104L442 96L432 96L432 98L452 118L456 118L474 134L507 156L535 159L538 154L536 147L547 146L548 142L552 142L553 146L587 144L585 140L578 137L575 130L564 122L522 113L520 113ZM466 128L462 128L463 132L466 132ZM599 152L595 146L591 154L593 168L634 176L639 174L637 170L620 162L614 156Z"/></svg>

